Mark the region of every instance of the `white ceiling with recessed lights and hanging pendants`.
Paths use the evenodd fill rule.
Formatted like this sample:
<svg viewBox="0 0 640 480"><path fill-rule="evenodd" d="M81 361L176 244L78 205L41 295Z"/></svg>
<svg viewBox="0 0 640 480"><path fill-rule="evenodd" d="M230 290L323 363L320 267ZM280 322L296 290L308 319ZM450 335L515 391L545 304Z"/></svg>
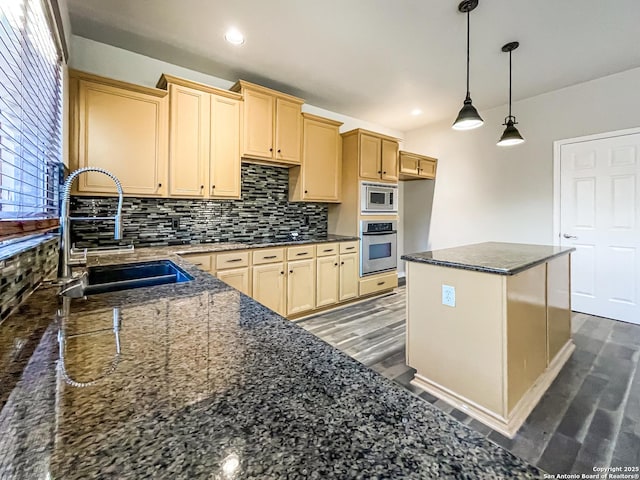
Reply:
<svg viewBox="0 0 640 480"><path fill-rule="evenodd" d="M464 99L457 0L67 3L76 35L401 131L453 121ZM474 105L482 113L506 103L500 49L513 40L514 100L639 67L639 20L639 0L480 0L471 13ZM224 41L230 26L245 34L243 46Z"/></svg>

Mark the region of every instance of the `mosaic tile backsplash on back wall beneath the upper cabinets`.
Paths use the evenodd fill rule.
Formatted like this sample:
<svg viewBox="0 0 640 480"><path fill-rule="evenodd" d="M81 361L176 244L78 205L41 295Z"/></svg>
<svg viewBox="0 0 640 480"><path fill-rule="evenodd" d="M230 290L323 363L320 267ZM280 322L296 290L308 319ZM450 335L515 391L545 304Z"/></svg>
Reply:
<svg viewBox="0 0 640 480"><path fill-rule="evenodd" d="M241 200L125 198L123 239L113 239L113 224L74 222L72 243L78 247L152 246L207 242L286 239L327 234L327 205L288 201L286 168L242 164ZM73 197L72 216L110 216L113 197Z"/></svg>

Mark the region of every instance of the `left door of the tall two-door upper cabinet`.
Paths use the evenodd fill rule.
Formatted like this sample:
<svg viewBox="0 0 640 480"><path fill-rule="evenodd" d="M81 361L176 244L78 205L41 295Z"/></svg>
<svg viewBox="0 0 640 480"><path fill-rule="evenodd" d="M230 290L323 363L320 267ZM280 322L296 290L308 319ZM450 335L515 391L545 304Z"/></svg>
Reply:
<svg viewBox="0 0 640 480"><path fill-rule="evenodd" d="M209 165L209 97L180 85L169 87L169 195L204 197Z"/></svg>

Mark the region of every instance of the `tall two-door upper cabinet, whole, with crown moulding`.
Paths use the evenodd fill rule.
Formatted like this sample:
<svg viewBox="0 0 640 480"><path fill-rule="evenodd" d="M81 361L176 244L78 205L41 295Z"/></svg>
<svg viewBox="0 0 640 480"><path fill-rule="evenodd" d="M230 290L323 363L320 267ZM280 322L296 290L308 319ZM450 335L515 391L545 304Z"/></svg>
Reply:
<svg viewBox="0 0 640 480"><path fill-rule="evenodd" d="M169 89L169 195L240 198L240 95L163 75Z"/></svg>

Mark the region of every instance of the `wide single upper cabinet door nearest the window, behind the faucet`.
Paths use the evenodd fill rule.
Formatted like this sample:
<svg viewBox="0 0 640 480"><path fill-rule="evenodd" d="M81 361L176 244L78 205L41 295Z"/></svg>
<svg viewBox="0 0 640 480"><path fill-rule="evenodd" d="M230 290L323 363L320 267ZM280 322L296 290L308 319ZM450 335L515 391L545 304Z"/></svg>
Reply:
<svg viewBox="0 0 640 480"><path fill-rule="evenodd" d="M78 102L78 167L108 170L126 195L166 195L166 97L80 80ZM116 188L106 175L90 172L78 179L78 191L115 194Z"/></svg>

